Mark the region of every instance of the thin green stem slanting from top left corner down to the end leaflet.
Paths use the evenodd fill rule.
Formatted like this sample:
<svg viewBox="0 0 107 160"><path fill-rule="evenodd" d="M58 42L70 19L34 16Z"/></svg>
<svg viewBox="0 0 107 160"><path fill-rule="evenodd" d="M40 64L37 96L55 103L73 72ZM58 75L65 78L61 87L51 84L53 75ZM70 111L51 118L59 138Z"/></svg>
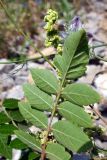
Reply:
<svg viewBox="0 0 107 160"><path fill-rule="evenodd" d="M19 29L18 25L14 22L13 18L11 17L10 13L8 12L7 7L2 2L2 0L0 0L0 4L1 4L2 8L4 9L4 11L5 11L6 15L8 16L8 18L14 24L16 31L18 31L20 34L22 34L26 41L30 41L31 40L30 37L28 35L26 35L21 29ZM50 64L50 66L55 68L54 64L51 63L51 61L49 61L49 59L38 48L36 48L33 43L31 43L31 46L35 49L35 51L37 51Z"/></svg>

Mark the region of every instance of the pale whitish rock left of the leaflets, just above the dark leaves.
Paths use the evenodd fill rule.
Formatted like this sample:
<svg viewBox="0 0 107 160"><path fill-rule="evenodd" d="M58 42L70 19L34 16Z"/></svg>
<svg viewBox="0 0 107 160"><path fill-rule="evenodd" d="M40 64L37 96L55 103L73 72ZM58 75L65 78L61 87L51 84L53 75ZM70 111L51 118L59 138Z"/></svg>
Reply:
<svg viewBox="0 0 107 160"><path fill-rule="evenodd" d="M6 98L16 98L16 99L23 99L24 98L24 92L22 89L22 86L17 85L15 87L13 87L12 89L10 89L8 91L8 95Z"/></svg>

